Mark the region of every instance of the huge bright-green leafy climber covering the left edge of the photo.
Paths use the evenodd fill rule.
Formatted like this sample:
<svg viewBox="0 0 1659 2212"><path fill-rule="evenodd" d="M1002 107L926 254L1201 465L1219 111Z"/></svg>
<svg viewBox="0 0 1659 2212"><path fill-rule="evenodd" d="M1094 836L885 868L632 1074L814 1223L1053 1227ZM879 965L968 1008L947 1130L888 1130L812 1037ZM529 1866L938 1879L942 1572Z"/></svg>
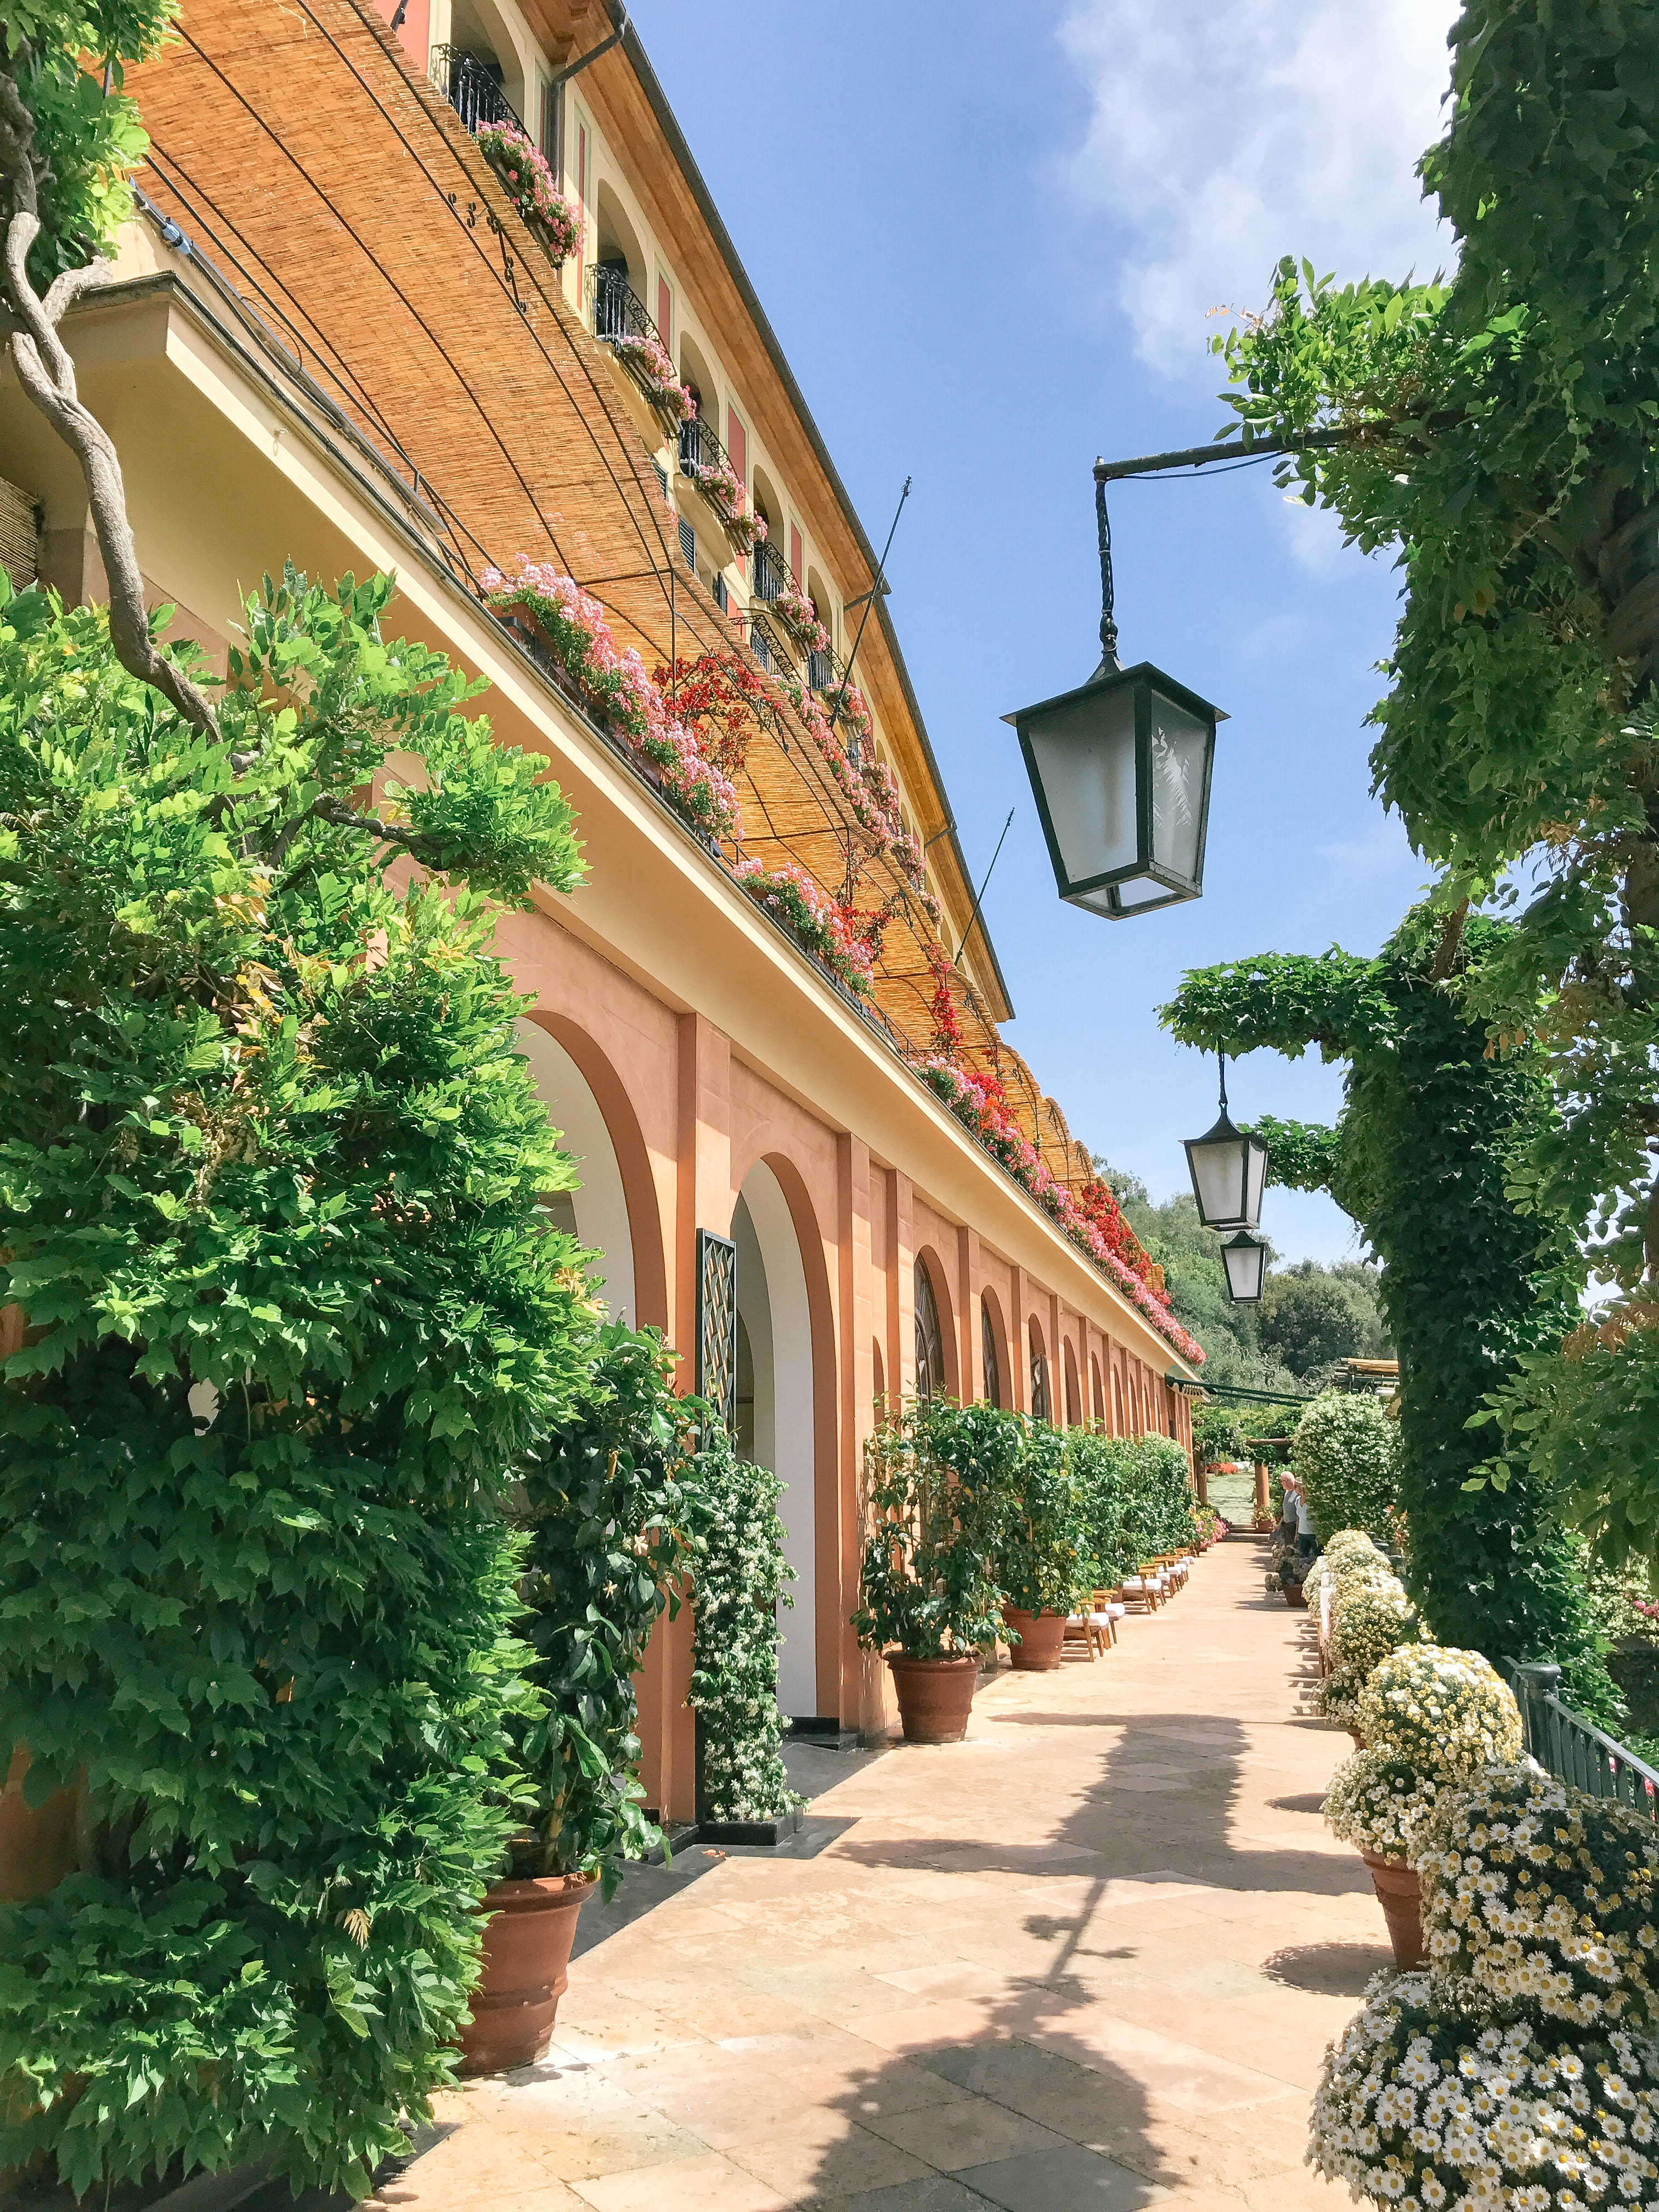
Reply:
<svg viewBox="0 0 1659 2212"><path fill-rule="evenodd" d="M577 863L389 599L268 582L204 730L0 580L0 1767L75 1796L0 1905L0 2166L75 2190L363 2194L511 1818L502 1509L588 1323L489 900Z"/></svg>

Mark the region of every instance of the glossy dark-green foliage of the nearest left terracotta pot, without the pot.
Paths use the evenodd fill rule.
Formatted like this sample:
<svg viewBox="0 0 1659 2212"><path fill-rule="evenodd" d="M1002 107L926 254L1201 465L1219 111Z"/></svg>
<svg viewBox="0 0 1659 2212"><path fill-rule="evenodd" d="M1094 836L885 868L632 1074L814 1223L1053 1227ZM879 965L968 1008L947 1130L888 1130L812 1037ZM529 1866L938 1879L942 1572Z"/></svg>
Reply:
<svg viewBox="0 0 1659 2212"><path fill-rule="evenodd" d="M597 1874L604 1896L626 1858L661 1843L641 1809L633 1677L657 1615L679 1610L692 1438L672 1376L675 1354L655 1329L604 1325L575 1409L522 1482L520 1632L544 1708L520 1730L535 1805L513 1871Z"/></svg>

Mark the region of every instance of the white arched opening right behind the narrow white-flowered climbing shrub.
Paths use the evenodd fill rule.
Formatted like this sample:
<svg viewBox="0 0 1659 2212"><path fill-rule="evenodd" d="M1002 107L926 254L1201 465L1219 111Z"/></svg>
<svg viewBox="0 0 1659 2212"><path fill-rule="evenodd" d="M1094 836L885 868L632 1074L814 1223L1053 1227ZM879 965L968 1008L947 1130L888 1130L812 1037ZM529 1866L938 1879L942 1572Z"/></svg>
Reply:
<svg viewBox="0 0 1659 2212"><path fill-rule="evenodd" d="M790 1201L765 1161L757 1161L743 1177L732 1212L732 1241L739 1363L748 1340L752 1389L750 1458L770 1467L783 1484L783 1555L794 1568L794 1606L779 1617L779 1705L807 1719L818 1712L812 1305ZM741 1385L739 1365L739 1391Z"/></svg>

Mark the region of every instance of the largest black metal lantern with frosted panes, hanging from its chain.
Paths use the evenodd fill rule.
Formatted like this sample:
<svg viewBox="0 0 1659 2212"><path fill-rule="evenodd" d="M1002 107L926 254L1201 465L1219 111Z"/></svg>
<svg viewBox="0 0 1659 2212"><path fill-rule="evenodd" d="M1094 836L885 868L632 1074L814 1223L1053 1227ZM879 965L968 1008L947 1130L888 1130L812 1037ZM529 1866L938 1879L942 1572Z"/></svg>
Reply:
<svg viewBox="0 0 1659 2212"><path fill-rule="evenodd" d="M1002 719L1020 732L1060 896L1124 920L1203 896L1214 730L1225 714L1150 661L1119 666L1099 467L1099 668L1077 690Z"/></svg>

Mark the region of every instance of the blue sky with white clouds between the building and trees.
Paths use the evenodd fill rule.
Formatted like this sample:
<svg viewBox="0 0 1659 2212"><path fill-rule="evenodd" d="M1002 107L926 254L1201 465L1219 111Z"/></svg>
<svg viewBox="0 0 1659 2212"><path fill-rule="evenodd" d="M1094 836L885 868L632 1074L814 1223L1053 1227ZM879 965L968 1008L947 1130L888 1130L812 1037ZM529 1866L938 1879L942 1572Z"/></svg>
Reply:
<svg viewBox="0 0 1659 2212"><path fill-rule="evenodd" d="M1281 252L1427 274L1411 164L1438 135L1449 0L635 0L633 18L869 535L905 476L891 611L975 876L1013 1042L1075 1135L1155 1197L1214 1115L1157 1026L1183 969L1374 951L1425 883L1369 796L1365 714L1398 577L1270 471L1113 498L1124 659L1228 708L1206 896L1062 907L1002 714L1097 659L1095 453L1221 427L1214 305ZM1340 1075L1245 1060L1234 1108L1325 1117ZM1327 1199L1272 1192L1287 1256L1338 1259Z"/></svg>

